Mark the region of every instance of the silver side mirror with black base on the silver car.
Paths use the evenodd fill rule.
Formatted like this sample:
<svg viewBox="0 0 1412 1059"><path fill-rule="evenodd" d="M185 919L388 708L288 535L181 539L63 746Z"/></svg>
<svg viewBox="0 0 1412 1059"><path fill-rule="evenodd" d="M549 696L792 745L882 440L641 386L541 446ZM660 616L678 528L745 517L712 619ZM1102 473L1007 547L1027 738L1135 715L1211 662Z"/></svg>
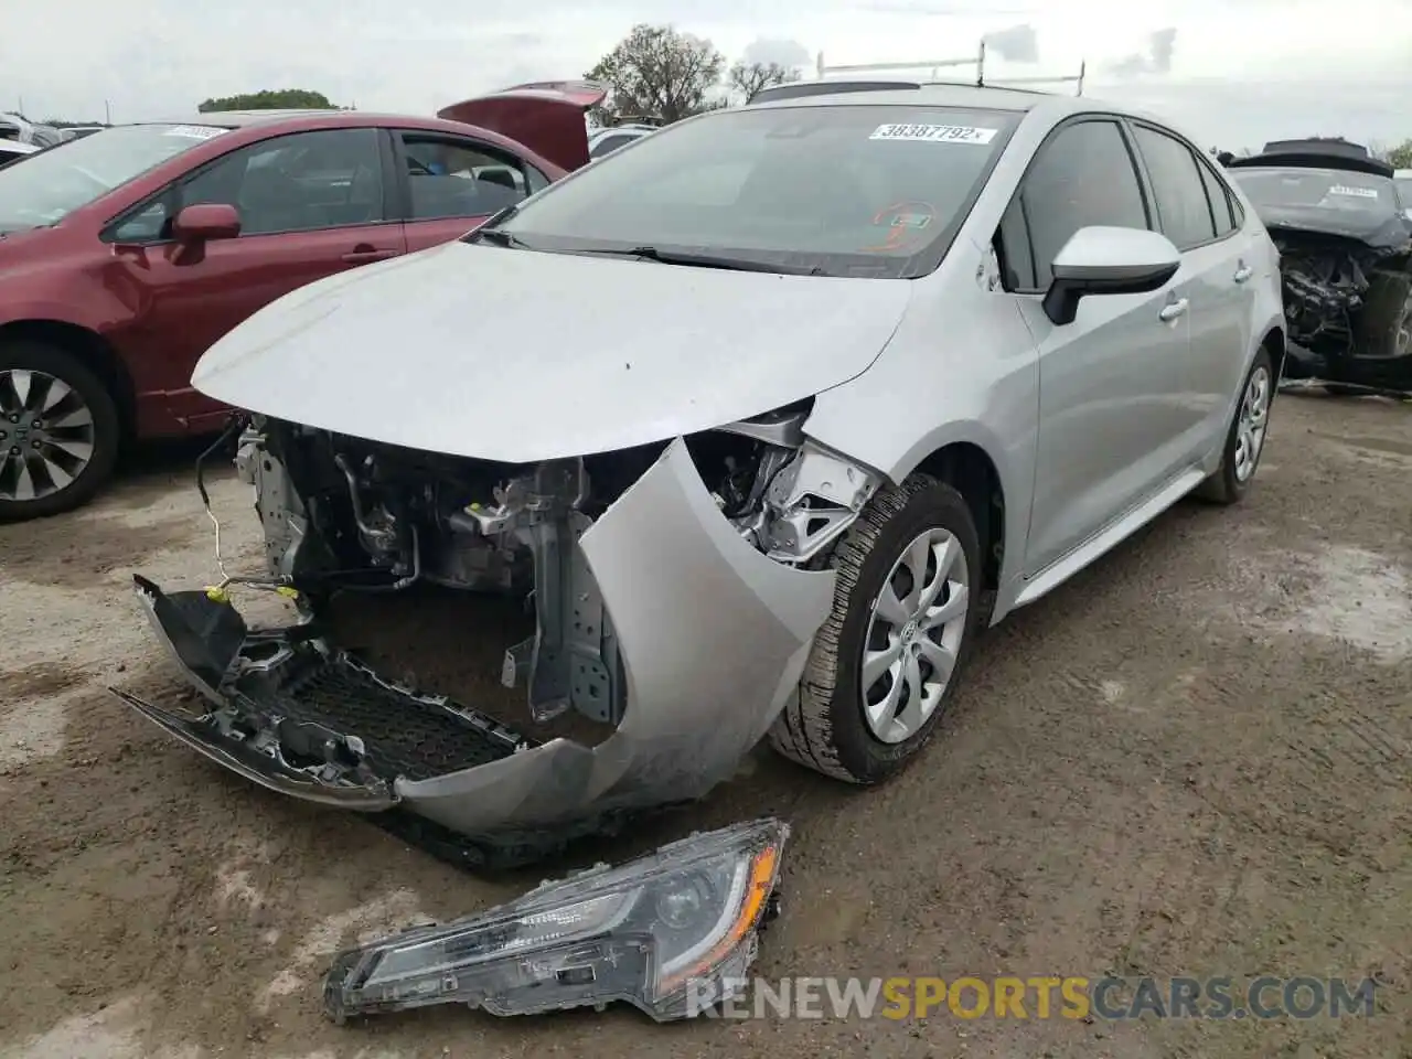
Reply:
<svg viewBox="0 0 1412 1059"><path fill-rule="evenodd" d="M1161 289L1182 267L1182 251L1159 232L1137 227L1082 227L1053 263L1045 315L1073 323L1079 301L1094 294L1148 294Z"/></svg>

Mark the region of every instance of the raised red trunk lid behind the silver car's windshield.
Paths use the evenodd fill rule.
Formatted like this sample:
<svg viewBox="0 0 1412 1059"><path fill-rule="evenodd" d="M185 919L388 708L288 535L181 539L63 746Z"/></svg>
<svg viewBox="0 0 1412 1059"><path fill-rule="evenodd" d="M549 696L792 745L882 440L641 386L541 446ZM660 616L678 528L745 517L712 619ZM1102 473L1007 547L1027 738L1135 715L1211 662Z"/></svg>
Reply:
<svg viewBox="0 0 1412 1059"><path fill-rule="evenodd" d="M535 80L452 103L436 117L500 133L573 171L589 164L583 116L607 95L607 88L593 80Z"/></svg>

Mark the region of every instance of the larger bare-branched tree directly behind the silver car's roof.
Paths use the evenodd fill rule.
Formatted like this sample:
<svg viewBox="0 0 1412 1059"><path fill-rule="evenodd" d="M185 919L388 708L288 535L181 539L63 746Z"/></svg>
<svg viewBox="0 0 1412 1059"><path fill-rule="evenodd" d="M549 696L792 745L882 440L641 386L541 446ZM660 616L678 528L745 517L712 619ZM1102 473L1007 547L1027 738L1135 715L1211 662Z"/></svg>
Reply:
<svg viewBox="0 0 1412 1059"><path fill-rule="evenodd" d="M710 93L724 68L726 56L710 41L640 23L585 76L609 88L600 117L651 116L671 124L720 106Z"/></svg>

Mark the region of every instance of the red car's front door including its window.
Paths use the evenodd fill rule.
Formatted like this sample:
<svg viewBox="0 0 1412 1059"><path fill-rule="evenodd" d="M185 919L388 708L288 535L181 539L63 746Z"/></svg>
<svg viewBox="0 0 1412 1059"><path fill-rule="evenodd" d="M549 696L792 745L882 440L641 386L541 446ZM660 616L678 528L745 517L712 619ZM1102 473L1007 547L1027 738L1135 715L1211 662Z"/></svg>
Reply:
<svg viewBox="0 0 1412 1059"><path fill-rule="evenodd" d="M216 339L275 298L405 253L388 171L380 130L325 128L240 147L176 181L104 236L140 306L114 340L140 343L189 377ZM172 219L196 203L233 205L240 234L172 240ZM193 431L223 414L191 387L169 393L168 407Z"/></svg>

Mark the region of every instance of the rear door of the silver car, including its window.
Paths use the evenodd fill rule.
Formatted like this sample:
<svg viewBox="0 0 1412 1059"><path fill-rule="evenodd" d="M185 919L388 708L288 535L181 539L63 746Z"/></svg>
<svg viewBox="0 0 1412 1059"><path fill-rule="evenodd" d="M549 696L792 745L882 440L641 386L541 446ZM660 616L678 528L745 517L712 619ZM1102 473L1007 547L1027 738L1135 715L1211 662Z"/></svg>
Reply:
<svg viewBox="0 0 1412 1059"><path fill-rule="evenodd" d="M1255 249L1230 195L1200 151L1169 131L1132 123L1162 233L1182 251L1178 297L1189 305L1192 350L1182 360L1185 452L1196 460L1226 435L1230 402L1251 347Z"/></svg>

